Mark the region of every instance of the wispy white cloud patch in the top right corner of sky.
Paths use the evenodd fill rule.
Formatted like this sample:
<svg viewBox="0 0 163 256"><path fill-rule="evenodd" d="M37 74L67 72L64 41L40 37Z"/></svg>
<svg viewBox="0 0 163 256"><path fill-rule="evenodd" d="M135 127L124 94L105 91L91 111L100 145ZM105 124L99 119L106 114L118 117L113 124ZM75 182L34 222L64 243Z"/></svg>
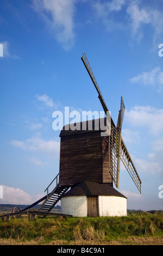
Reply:
<svg viewBox="0 0 163 256"><path fill-rule="evenodd" d="M128 28L133 37L139 42L145 32L146 26L151 26L153 42L161 39L163 32L163 17L159 9L145 5L141 1L112 0L96 1L93 3L96 16L100 18L108 32L115 29ZM123 16L121 12L123 11ZM117 19L116 13L120 16ZM124 17L125 19L122 19Z"/></svg>

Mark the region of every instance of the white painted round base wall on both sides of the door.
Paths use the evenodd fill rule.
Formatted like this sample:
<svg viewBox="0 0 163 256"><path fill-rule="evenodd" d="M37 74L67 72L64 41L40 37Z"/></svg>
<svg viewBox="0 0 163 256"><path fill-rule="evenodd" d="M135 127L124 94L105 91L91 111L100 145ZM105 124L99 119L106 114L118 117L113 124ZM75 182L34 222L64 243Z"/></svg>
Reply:
<svg viewBox="0 0 163 256"><path fill-rule="evenodd" d="M127 199L115 196L99 196L99 217L126 216ZM69 196L61 198L61 214L73 217L87 217L86 196Z"/></svg>

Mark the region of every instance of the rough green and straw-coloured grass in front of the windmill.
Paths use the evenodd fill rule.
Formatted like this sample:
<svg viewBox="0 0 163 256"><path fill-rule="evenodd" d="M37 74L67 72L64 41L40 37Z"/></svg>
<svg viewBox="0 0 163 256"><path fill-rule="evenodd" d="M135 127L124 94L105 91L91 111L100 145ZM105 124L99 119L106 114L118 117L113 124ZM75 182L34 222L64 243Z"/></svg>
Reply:
<svg viewBox="0 0 163 256"><path fill-rule="evenodd" d="M126 217L0 218L1 245L162 245L163 214Z"/></svg>

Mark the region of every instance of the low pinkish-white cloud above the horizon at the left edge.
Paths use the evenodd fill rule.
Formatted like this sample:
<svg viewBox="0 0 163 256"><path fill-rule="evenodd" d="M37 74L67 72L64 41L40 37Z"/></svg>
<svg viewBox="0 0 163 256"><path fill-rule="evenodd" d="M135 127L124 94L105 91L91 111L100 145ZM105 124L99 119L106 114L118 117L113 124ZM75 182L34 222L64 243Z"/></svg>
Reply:
<svg viewBox="0 0 163 256"><path fill-rule="evenodd" d="M14 187L3 187L3 198L0 199L1 204L33 204L37 200L41 199L45 194L40 193L36 196L31 196L30 194L24 192L20 188Z"/></svg>

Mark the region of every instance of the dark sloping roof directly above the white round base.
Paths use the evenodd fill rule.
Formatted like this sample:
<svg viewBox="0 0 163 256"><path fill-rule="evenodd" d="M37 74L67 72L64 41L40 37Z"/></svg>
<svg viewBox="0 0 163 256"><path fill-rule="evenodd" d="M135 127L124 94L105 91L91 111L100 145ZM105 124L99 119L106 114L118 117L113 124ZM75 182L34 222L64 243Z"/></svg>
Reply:
<svg viewBox="0 0 163 256"><path fill-rule="evenodd" d="M95 181L84 181L73 185L71 190L62 197L69 196L115 196L127 198L108 183Z"/></svg>

